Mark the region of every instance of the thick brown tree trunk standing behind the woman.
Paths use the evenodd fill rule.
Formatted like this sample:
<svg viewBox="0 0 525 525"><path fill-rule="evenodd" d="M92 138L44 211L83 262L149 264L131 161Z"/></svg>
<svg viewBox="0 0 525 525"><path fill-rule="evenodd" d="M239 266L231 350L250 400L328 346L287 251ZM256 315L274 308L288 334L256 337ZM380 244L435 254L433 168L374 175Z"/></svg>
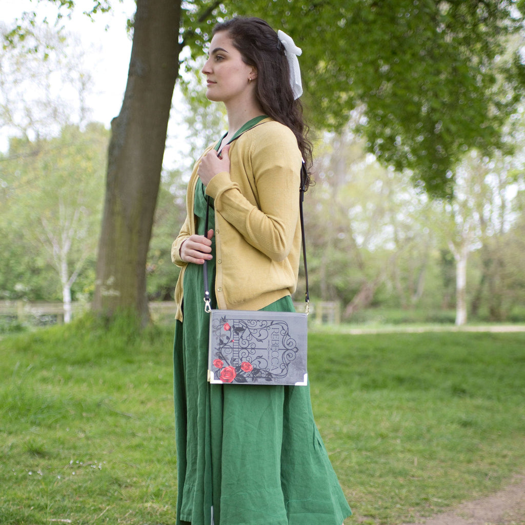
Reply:
<svg viewBox="0 0 525 525"><path fill-rule="evenodd" d="M111 123L106 199L93 309L149 321L146 255L173 89L178 75L181 3L137 0L128 84Z"/></svg>

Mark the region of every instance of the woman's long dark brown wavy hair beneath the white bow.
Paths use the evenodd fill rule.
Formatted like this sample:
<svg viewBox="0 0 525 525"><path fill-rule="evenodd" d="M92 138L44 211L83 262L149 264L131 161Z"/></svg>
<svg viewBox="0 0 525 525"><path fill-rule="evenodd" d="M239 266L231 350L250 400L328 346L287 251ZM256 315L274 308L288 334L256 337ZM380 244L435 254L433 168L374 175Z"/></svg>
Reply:
<svg viewBox="0 0 525 525"><path fill-rule="evenodd" d="M220 22L213 28L213 35L219 31L227 31L245 64L257 68L255 95L262 111L293 131L309 171L312 143L307 137L308 126L303 120L301 102L293 99L290 68L276 31L255 17L236 17ZM306 182L308 187L309 175Z"/></svg>

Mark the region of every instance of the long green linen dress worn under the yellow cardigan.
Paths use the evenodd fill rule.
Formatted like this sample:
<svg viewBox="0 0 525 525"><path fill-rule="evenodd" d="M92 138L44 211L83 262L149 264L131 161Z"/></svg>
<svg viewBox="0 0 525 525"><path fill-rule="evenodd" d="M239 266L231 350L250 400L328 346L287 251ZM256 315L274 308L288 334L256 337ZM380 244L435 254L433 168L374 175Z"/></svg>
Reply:
<svg viewBox="0 0 525 525"><path fill-rule="evenodd" d="M205 213L199 181L199 235ZM214 261L208 262L212 308ZM203 266L189 264L174 342L176 524L341 525L351 510L314 422L309 386L209 384L203 297ZM293 311L293 303L285 297L264 310Z"/></svg>

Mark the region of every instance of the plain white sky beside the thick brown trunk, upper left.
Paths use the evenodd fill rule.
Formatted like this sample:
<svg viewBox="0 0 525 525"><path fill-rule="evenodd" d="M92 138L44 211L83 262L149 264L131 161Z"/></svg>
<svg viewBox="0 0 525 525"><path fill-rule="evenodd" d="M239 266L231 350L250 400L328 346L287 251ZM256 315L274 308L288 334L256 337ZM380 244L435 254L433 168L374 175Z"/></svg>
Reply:
<svg viewBox="0 0 525 525"><path fill-rule="evenodd" d="M83 64L93 80L87 99L92 108L91 120L102 122L109 128L111 119L120 111L128 78L132 42L126 31L126 23L135 12L135 2L113 2L112 11L93 15L94 21L83 14L92 6L92 0L77 0L76 4L71 19L65 19L64 26L68 33L78 36L83 48L91 51L86 53L86 62ZM11 24L24 11L33 10L37 12L38 19L47 16L51 24L56 19L57 8L47 2L0 0L0 22ZM64 10L66 13L67 10ZM170 126L164 155L164 167L167 169L175 166L177 152L184 151L184 146L181 146L183 135L184 130L173 124ZM5 144L6 137L2 137L0 128L0 149L4 150Z"/></svg>

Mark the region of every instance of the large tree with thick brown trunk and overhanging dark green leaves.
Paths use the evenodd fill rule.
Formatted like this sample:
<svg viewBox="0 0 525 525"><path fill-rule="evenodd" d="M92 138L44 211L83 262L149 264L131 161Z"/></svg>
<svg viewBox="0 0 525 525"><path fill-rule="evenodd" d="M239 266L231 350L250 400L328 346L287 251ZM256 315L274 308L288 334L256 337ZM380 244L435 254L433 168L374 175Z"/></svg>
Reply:
<svg viewBox="0 0 525 525"><path fill-rule="evenodd" d="M147 320L146 255L180 53L186 45L202 52L217 16L249 13L286 27L303 48L311 122L338 129L363 104L369 150L443 195L466 149L498 143L521 95L521 62L498 60L522 26L519 8L510 0L137 0L128 85L112 126L95 308L132 308ZM511 95L500 96L501 87Z"/></svg>

